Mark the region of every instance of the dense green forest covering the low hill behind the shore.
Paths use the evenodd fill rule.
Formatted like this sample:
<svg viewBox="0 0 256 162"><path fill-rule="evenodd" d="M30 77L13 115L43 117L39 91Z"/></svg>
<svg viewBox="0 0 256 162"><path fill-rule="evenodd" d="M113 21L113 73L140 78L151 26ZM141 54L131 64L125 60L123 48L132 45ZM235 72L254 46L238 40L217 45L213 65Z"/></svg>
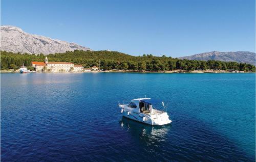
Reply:
<svg viewBox="0 0 256 162"><path fill-rule="evenodd" d="M43 54L29 55L28 53L12 53L1 51L1 70L16 69L21 65L31 67L31 61L44 62ZM131 56L117 51L66 51L47 55L50 62L71 62L81 64L84 68L94 65L103 70L124 69L124 70L146 70L146 71L167 71L167 70L243 70L255 71L255 66L246 63L222 62L222 61L196 61L179 60L172 57L155 57L153 55Z"/></svg>

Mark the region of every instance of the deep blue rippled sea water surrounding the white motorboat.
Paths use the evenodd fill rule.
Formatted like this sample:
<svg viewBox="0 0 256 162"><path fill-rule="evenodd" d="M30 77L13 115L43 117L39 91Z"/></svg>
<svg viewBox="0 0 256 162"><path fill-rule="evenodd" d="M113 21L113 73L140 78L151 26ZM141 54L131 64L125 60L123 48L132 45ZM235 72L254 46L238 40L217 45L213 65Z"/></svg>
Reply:
<svg viewBox="0 0 256 162"><path fill-rule="evenodd" d="M173 123L122 118L168 102ZM255 74L1 74L2 161L254 161Z"/></svg>

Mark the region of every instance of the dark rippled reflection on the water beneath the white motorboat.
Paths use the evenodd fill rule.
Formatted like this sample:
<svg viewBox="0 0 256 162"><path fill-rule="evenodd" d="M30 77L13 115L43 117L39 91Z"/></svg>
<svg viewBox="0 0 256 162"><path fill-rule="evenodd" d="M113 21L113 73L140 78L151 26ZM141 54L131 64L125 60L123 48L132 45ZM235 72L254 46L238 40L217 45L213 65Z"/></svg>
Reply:
<svg viewBox="0 0 256 162"><path fill-rule="evenodd" d="M120 120L120 125L122 129L131 133L132 137L135 139L139 137L140 142L147 145L167 141L168 131L172 127L172 125L151 126L124 117Z"/></svg>

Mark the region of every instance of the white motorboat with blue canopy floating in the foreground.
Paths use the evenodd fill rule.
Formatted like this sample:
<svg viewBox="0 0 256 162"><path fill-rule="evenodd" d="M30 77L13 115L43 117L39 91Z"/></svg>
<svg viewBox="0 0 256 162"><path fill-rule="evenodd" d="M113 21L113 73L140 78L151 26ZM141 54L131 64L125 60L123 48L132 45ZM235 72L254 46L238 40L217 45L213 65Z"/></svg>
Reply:
<svg viewBox="0 0 256 162"><path fill-rule="evenodd" d="M156 105L163 106L158 110ZM150 125L165 125L172 122L166 113L164 102L151 98L133 99L129 104L119 104L123 117ZM160 108L160 107L158 107ZM165 111L164 111L165 110Z"/></svg>

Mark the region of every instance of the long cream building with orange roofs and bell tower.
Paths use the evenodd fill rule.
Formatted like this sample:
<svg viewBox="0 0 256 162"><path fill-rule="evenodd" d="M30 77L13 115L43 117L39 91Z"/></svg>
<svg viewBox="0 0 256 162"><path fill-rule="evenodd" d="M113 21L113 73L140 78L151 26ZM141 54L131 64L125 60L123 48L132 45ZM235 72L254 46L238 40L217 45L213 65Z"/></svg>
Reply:
<svg viewBox="0 0 256 162"><path fill-rule="evenodd" d="M32 66L37 72L50 71L50 72L80 72L83 70L82 65L74 65L69 62L48 62L46 57L45 62L31 62Z"/></svg>

